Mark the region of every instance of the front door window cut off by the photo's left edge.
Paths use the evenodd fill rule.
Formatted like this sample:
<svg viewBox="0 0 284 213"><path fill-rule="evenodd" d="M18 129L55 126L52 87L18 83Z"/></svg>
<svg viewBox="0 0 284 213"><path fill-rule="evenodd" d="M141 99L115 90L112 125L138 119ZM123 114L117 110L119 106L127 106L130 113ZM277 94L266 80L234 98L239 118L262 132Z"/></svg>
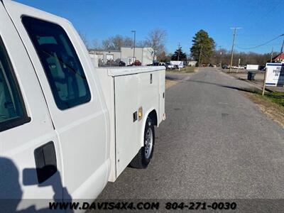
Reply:
<svg viewBox="0 0 284 213"><path fill-rule="evenodd" d="M28 120L9 56L0 38L0 131Z"/></svg>

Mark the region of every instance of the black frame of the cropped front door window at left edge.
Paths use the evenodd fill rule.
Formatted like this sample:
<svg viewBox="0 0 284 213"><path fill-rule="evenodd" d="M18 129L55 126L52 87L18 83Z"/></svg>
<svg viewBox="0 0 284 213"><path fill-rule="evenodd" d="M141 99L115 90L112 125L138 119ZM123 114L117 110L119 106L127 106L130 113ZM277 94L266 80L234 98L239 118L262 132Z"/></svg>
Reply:
<svg viewBox="0 0 284 213"><path fill-rule="evenodd" d="M3 121L0 123L0 133L2 131L6 131L8 129L13 129L17 126L21 126L23 124L29 123L31 121L31 117L28 116L27 111L26 111L26 105L23 101L23 95L21 93L21 88L18 84L18 80L15 74L15 71L13 69L13 65L11 63L11 59L9 57L8 51L6 49L6 46L4 45L4 41L1 38L0 35L0 46L2 47L3 53L4 53L4 57L7 61L7 64L9 66L9 72L11 72L11 81L13 81L15 88L13 88L13 92L15 92L18 97L14 97L17 98L18 103L20 104L19 107L21 107L21 110L23 111L23 116L21 116L20 118L14 118L14 119L9 119L8 121ZM6 72L6 70L3 70L3 72Z"/></svg>

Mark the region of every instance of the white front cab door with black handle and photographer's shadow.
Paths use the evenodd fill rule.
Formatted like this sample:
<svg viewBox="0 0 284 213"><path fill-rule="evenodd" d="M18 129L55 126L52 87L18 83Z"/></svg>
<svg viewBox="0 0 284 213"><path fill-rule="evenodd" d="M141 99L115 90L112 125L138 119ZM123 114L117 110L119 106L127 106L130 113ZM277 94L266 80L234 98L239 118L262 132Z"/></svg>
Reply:
<svg viewBox="0 0 284 213"><path fill-rule="evenodd" d="M62 200L61 174L58 137L43 92L0 1L0 200L6 199L0 209L14 212L32 204L42 209L48 200Z"/></svg>

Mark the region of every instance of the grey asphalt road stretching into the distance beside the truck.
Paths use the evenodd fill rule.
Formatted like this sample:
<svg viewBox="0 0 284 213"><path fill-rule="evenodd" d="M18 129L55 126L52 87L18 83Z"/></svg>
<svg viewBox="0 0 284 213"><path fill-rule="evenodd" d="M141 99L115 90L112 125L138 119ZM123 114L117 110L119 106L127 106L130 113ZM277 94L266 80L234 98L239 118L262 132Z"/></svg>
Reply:
<svg viewBox="0 0 284 213"><path fill-rule="evenodd" d="M201 69L167 75L167 120L146 170L126 168L99 199L284 198L284 131L238 88Z"/></svg>

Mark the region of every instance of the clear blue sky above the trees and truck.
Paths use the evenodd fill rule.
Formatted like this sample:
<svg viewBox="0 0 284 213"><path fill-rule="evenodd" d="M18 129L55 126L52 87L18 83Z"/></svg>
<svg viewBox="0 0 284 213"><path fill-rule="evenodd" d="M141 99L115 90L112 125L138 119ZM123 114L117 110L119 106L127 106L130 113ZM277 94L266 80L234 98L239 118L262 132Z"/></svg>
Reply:
<svg viewBox="0 0 284 213"><path fill-rule="evenodd" d="M178 48L189 54L192 37L203 29L216 43L216 48L231 49L233 31L235 50L255 53L280 52L284 33L284 0L16 0L70 20L86 35L89 43L113 35L144 40L148 32L160 28L167 31L168 53ZM251 48L251 49L247 49Z"/></svg>

